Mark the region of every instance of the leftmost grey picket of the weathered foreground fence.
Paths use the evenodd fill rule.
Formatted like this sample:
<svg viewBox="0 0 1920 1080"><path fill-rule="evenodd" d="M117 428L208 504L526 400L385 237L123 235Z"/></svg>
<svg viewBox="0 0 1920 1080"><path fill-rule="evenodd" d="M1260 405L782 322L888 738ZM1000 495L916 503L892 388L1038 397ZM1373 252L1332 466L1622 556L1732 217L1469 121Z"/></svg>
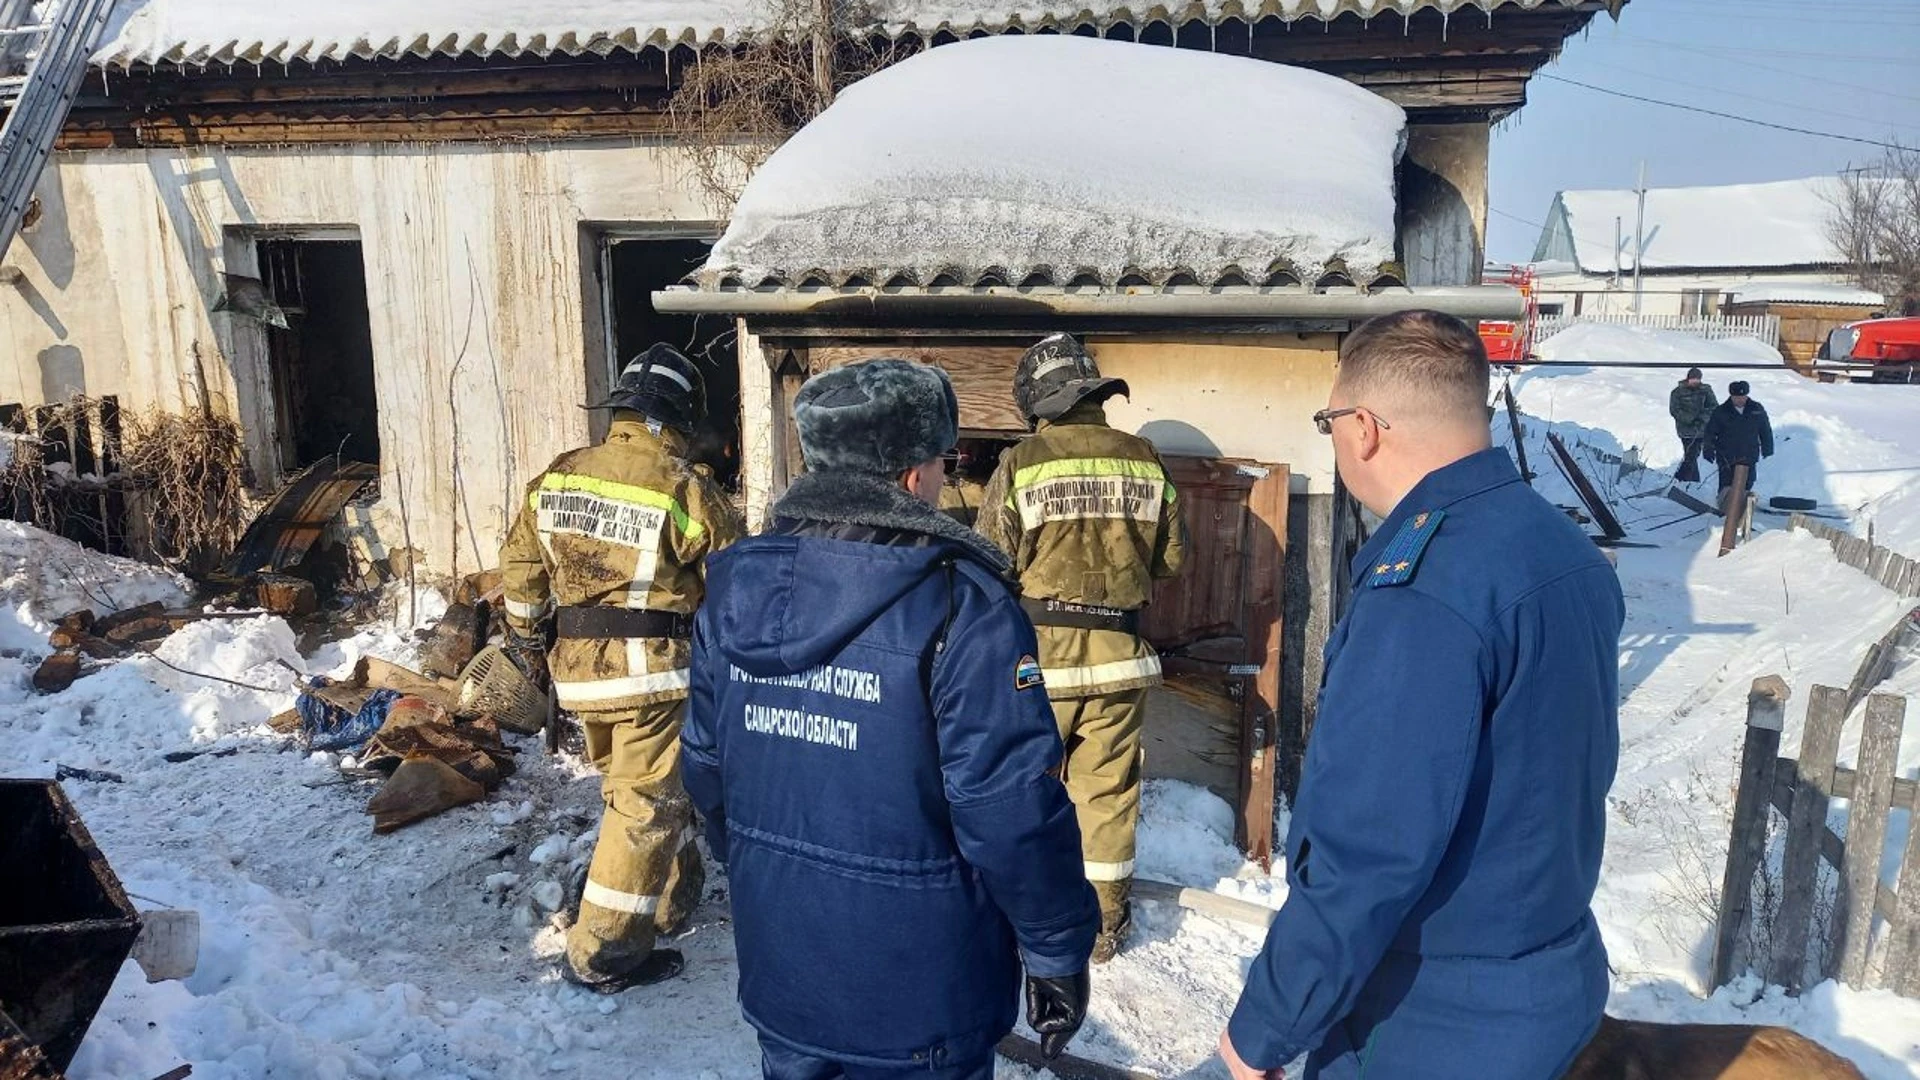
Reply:
<svg viewBox="0 0 1920 1080"><path fill-rule="evenodd" d="M1734 796L1734 832L1726 846L1726 876L1720 880L1720 920L1713 942L1709 986L1726 986L1736 974L1740 953L1753 920L1753 874L1766 855L1766 822L1774 790L1774 763L1780 757L1780 730L1786 726L1791 690L1778 675L1753 680L1747 692L1747 744L1740 755L1740 788Z"/></svg>

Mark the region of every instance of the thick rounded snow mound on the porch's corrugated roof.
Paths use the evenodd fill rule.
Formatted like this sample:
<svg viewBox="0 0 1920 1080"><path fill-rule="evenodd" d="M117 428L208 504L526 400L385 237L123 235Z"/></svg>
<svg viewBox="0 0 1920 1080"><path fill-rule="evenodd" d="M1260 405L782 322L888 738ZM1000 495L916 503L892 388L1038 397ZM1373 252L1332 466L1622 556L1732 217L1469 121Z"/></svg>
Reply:
<svg viewBox="0 0 1920 1080"><path fill-rule="evenodd" d="M1344 259L1371 277L1394 254L1404 125L1344 79L1260 60L1054 35L958 42L854 85L781 146L707 269L1212 281L1283 263L1311 281Z"/></svg>

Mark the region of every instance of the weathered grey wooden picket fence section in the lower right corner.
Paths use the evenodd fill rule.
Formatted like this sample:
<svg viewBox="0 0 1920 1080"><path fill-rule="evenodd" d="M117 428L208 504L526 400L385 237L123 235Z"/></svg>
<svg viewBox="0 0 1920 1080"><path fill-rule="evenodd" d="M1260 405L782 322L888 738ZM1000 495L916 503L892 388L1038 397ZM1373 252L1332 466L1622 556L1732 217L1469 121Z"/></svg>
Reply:
<svg viewBox="0 0 1920 1080"><path fill-rule="evenodd" d="M1713 986L1751 969L1795 992L1839 978L1920 997L1920 782L1895 774L1907 700L1814 686L1801 755L1791 759L1780 757L1788 696L1776 675L1757 678L1747 696L1747 744L1720 886ZM1845 769L1836 759L1855 696L1866 698L1866 713L1859 765ZM1849 803L1845 838L1828 824L1832 799ZM1768 859L1774 811L1786 822L1778 863ZM1887 888L1882 855L1895 811L1905 811L1908 828L1895 888ZM1832 903L1822 888L1822 863L1837 872ZM1876 919L1885 926L1878 965L1872 963Z"/></svg>

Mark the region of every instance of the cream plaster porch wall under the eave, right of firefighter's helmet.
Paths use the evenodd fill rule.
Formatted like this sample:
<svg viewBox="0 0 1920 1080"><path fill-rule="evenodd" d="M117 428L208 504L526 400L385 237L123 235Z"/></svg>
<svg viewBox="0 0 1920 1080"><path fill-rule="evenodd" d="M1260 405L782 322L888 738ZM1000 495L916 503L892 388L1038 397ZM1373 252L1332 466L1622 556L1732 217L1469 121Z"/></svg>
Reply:
<svg viewBox="0 0 1920 1080"><path fill-rule="evenodd" d="M1131 398L1106 405L1108 421L1162 454L1250 457L1286 465L1296 494L1332 492L1332 444L1311 417L1332 390L1334 334L1087 342L1102 375L1127 380Z"/></svg>

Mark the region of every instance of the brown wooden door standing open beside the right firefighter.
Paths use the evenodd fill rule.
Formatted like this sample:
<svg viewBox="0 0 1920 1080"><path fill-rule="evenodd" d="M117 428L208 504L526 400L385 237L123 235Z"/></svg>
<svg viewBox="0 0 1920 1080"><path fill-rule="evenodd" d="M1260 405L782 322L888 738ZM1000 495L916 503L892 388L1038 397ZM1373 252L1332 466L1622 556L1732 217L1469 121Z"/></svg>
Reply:
<svg viewBox="0 0 1920 1080"><path fill-rule="evenodd" d="M1204 782L1235 805L1235 840L1273 859L1284 465L1167 457L1187 515L1187 571L1160 582L1140 632L1167 684L1148 707L1148 774Z"/></svg>

